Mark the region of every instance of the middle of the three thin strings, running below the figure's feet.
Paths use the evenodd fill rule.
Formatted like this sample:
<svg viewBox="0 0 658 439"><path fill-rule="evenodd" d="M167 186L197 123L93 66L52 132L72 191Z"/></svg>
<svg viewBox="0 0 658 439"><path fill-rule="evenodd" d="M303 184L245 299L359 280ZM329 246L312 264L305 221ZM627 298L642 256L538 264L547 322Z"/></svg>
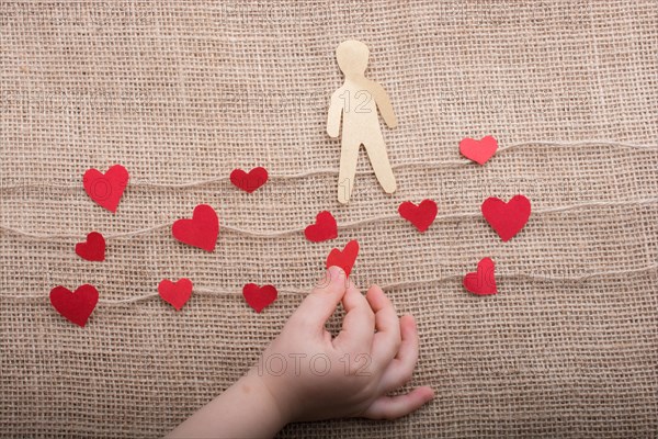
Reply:
<svg viewBox="0 0 658 439"><path fill-rule="evenodd" d="M557 206L557 207L548 207L548 209L541 209L541 210L535 210L532 212L532 215L540 215L540 214L546 214L546 213L555 213L555 212L566 212L566 211L571 211L571 210L577 210L577 209L585 209L585 207L613 207L613 206L624 206L624 205L644 205L644 204L655 204L658 203L658 198L651 198L651 199L639 199L639 200L626 200L626 201L590 201L590 202L586 202L586 203L580 203L580 204L574 204L574 205L567 205L567 206ZM445 222L445 221L450 221L450 219L463 219L463 218L470 218L470 217L477 217L477 216L481 216L480 212L474 212L474 213L455 213L455 214L447 214L447 215L436 215L436 219L439 222ZM378 216L373 216L370 218L364 218L364 219L358 219L358 221L353 221L353 222L348 222L348 223L341 223L339 225L340 229L349 229L349 228L354 228L367 223L375 223L375 222L379 222L379 221L388 221L388 219L396 219L396 218L400 218L401 217L398 214L388 214L388 215L378 215ZM105 237L105 239L113 239L113 238L131 238L134 236L138 236L138 235L145 235L148 234L150 232L155 232L155 230L159 230L159 229L163 229L163 228L168 228L171 227L172 223L168 223L168 224L160 224L157 226L152 226L152 227L146 227L146 228L140 228L137 230L132 230L132 232L120 232L120 233L114 233L114 234L106 234L103 235ZM246 236L251 236L251 237L258 237L258 238L276 238L276 237L281 237L281 236L286 236L286 235L293 235L293 234L298 234L298 233L303 233L305 229L305 227L303 228L291 228L287 230L280 230L280 232L256 232L256 230L248 230L248 229L243 229L243 228L239 228L239 227L234 227L234 226L227 226L227 225L220 225L219 226L219 230L222 233L222 230L229 230L229 232L234 232L240 235L246 235ZM2 226L0 225L0 230L3 232L8 232L14 235L19 235L19 236L23 236L26 238L32 238L32 239L56 239L56 238L76 238L76 239L84 239L86 235L79 235L79 234L53 234L53 235L39 235L39 234L34 234L34 233L30 233L30 232L23 232L20 229L15 229L12 227L7 227L7 226Z"/></svg>

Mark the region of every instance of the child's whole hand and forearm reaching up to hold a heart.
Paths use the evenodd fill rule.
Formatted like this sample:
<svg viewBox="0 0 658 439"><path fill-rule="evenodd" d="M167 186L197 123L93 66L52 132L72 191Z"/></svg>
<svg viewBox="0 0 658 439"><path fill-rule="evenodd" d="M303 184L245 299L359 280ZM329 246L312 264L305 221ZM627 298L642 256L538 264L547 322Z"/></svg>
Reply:
<svg viewBox="0 0 658 439"><path fill-rule="evenodd" d="M341 301L347 314L332 339L325 323ZM428 386L386 396L411 379L417 359L413 317L398 319L378 286L364 297L331 267L259 362L168 437L260 438L297 420L405 416L434 396Z"/></svg>

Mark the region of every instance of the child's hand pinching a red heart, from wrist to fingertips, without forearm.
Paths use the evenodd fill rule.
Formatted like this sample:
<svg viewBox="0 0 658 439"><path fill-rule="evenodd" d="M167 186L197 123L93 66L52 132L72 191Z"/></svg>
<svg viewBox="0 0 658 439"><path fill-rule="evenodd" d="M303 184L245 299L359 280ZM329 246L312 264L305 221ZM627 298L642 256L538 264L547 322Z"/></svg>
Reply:
<svg viewBox="0 0 658 439"><path fill-rule="evenodd" d="M347 314L332 339L325 323L341 301ZM411 379L417 359L413 317L398 318L382 289L373 285L364 296L340 268L331 267L249 375L260 378L285 423L392 419L434 396L428 386L386 396Z"/></svg>

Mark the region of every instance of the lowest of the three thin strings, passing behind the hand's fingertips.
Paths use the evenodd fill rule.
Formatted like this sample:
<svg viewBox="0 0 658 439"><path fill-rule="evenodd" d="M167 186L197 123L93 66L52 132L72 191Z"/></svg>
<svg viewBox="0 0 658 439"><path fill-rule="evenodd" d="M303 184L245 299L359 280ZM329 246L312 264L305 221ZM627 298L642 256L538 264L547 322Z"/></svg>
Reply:
<svg viewBox="0 0 658 439"><path fill-rule="evenodd" d="M567 277L567 275L555 277L555 275L543 275L543 274L531 274L531 273L500 273L500 274L496 274L496 279L497 280L498 279L530 279L530 280L546 281L546 282L560 282L560 281L581 282L581 281L587 281L587 280L591 280L591 279L595 279L595 278L623 275L623 274L635 274L635 273L651 272L651 271L658 271L658 263L654 263L651 266L642 267L642 268L627 269L627 270L598 271L598 272L592 272L589 274L576 275L576 277ZM401 282L389 283L387 285L379 285L379 286L384 291L402 290L402 289L409 289L409 288L424 286L428 284L442 283L442 282L450 281L450 280L461 280L464 278L464 275L465 274L450 274L450 275L445 275L443 278L434 278L434 279L429 279L429 280L423 280L423 281L401 281ZM311 289L303 290L303 289L280 288L276 290L280 293L286 293L290 295L306 295L309 293L309 291ZM208 289L208 288L204 288L204 286L194 286L193 293L201 294L201 295L214 295L214 296L241 295L242 294L240 291L226 290L226 289ZM47 297L46 295L43 295L43 294L38 294L38 295L0 295L0 296L3 300L4 299L34 300L34 299ZM158 297L158 296L159 296L158 293L148 293L148 294L138 295L135 297L120 299L120 300L100 299L99 303L107 304L107 305L121 305L121 304L125 304L125 303L141 302L141 301L146 301L146 300L149 300L152 297Z"/></svg>

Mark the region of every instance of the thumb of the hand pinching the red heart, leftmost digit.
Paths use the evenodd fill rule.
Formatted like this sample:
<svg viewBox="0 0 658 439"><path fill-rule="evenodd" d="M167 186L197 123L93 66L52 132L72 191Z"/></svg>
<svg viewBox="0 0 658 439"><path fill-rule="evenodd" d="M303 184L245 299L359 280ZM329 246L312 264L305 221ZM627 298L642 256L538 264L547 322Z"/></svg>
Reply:
<svg viewBox="0 0 658 439"><path fill-rule="evenodd" d="M348 282L348 277L341 268L329 267L291 319L302 322L306 327L324 328L342 300Z"/></svg>

